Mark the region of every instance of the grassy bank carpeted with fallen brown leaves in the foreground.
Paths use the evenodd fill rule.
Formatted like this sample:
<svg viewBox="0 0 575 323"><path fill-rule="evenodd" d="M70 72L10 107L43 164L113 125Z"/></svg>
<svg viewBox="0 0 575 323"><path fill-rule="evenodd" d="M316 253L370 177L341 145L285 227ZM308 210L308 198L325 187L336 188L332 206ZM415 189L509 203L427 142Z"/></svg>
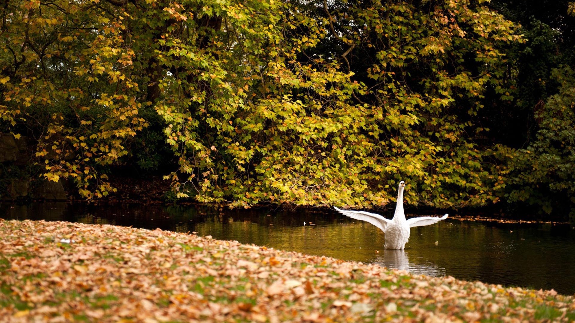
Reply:
<svg viewBox="0 0 575 323"><path fill-rule="evenodd" d="M573 296L163 230L0 219L2 322L573 321Z"/></svg>

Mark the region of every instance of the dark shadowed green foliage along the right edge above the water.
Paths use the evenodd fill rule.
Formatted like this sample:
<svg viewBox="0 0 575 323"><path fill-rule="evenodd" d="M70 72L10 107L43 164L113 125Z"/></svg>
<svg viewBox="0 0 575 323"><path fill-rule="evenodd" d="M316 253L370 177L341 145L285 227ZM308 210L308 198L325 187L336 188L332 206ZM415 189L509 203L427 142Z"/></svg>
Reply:
<svg viewBox="0 0 575 323"><path fill-rule="evenodd" d="M493 111L500 116L492 121L499 132L493 139L506 145L498 147L499 164L508 172L501 198L514 212L575 219L575 3L496 0L491 5L519 22L527 38L508 51L515 99Z"/></svg>

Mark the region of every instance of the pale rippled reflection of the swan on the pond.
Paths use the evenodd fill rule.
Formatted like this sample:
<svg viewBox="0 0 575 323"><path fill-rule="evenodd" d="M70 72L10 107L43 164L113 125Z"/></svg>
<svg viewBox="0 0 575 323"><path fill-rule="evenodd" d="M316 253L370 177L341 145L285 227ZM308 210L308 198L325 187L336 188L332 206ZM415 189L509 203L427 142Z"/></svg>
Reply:
<svg viewBox="0 0 575 323"><path fill-rule="evenodd" d="M426 262L425 260L410 263L409 253L405 250L386 249L383 255L377 255L370 263L389 269L405 270L416 275L445 276L445 268L439 267L434 263Z"/></svg>

